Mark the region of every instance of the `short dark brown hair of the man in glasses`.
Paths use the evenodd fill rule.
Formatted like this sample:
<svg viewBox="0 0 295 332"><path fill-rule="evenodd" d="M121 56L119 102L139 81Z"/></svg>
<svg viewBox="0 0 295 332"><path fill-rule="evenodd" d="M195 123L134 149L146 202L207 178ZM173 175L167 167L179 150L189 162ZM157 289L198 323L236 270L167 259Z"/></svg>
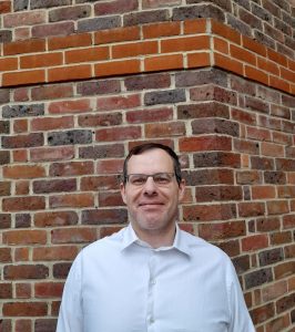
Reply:
<svg viewBox="0 0 295 332"><path fill-rule="evenodd" d="M160 143L144 143L141 145L136 145L134 146L130 152L129 155L126 156L125 160L124 160L124 165L123 165L123 184L126 184L128 180L128 162L129 159L133 156L133 155L141 155L146 151L150 149L154 149L154 148L161 148L164 152L166 152L173 162L173 168L174 168L174 174L175 174L175 178L177 184L181 184L182 180L182 176L181 176L181 163L179 159L179 156L174 153L174 151L169 147L167 145L164 144L160 144Z"/></svg>

